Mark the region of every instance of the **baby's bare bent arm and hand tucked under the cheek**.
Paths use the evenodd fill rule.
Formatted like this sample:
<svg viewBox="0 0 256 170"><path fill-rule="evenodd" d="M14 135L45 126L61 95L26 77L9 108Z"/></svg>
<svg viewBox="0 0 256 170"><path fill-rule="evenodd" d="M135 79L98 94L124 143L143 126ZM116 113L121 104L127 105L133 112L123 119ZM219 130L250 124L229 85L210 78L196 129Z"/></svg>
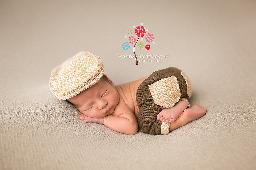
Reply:
<svg viewBox="0 0 256 170"><path fill-rule="evenodd" d="M79 117L84 122L98 123L120 133L133 135L138 131L137 119L132 113L123 113L119 116L108 115L104 118L91 118L85 115L79 115Z"/></svg>

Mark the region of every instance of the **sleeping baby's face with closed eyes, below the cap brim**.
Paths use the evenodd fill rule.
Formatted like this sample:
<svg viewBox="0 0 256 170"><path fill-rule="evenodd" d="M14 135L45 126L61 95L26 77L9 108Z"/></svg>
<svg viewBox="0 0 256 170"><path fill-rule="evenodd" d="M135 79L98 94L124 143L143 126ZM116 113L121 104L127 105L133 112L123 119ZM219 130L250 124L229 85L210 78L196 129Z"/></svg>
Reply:
<svg viewBox="0 0 256 170"><path fill-rule="evenodd" d="M119 102L119 94L111 80L110 83L100 80L69 101L85 116L104 118L114 113Z"/></svg>

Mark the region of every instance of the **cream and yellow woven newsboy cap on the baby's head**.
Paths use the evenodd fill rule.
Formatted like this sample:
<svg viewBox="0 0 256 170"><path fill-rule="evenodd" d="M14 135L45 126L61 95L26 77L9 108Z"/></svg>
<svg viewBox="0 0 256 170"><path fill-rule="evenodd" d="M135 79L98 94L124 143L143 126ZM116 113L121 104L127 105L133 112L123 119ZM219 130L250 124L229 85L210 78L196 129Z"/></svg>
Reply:
<svg viewBox="0 0 256 170"><path fill-rule="evenodd" d="M57 99L69 99L97 83L103 67L100 56L81 51L52 70L50 89Z"/></svg>

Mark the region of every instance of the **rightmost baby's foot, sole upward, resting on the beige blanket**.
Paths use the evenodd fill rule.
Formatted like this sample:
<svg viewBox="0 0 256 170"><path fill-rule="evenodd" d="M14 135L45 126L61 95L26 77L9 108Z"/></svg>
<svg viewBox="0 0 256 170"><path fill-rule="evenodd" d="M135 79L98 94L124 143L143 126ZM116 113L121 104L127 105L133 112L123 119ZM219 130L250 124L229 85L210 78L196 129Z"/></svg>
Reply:
<svg viewBox="0 0 256 170"><path fill-rule="evenodd" d="M206 109L199 105L193 105L190 109L186 109L183 112L183 117L187 118L189 121L196 120L205 115Z"/></svg>

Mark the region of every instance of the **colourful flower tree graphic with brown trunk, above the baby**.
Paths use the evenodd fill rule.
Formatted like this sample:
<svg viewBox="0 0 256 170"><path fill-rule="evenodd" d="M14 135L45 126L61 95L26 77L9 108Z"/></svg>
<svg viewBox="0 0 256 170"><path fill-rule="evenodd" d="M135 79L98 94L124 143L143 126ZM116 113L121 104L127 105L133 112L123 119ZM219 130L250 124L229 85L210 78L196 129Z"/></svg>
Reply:
<svg viewBox="0 0 256 170"><path fill-rule="evenodd" d="M136 36L137 36L137 38L138 38L137 41L136 41L136 36L135 36L135 37L134 37L134 36L131 36L131 37L129 37L128 41L126 41L126 42L124 42L124 43L122 44L122 48L123 48L124 50L128 50L128 49L130 49L130 43L131 43L131 44L134 44L134 46L133 46L133 53L134 53L134 55L135 55L136 65L138 65L138 59L137 59L137 56L136 56L136 53L135 53L135 46L138 47L137 49L145 49L145 48L146 48L146 50L150 50L150 49L151 49L151 46L150 46L150 44L147 44L147 45L145 46L145 45L143 45L142 42L139 42L139 43L137 44L137 42L138 42L139 40L141 40L141 41L145 40L145 41L148 42L148 43L151 43L151 42L152 42L153 45L155 44L155 42L153 42L153 39L154 39L153 34L151 34L151 33L146 33L146 32L148 32L148 29L145 29L145 27L143 26L143 23L141 23L140 25L138 25L136 28L135 28L135 26L133 26L132 28L135 29L135 34L136 34ZM128 34L128 35L132 35L133 33L134 33L134 30L131 30L131 29L127 30L127 34ZM127 38L127 35L125 35L124 37ZM144 38L144 39L143 39L143 38ZM136 41L136 42L135 42L135 41ZM136 44L137 44L137 45L136 45ZM144 47L145 47L145 48L144 48Z"/></svg>

